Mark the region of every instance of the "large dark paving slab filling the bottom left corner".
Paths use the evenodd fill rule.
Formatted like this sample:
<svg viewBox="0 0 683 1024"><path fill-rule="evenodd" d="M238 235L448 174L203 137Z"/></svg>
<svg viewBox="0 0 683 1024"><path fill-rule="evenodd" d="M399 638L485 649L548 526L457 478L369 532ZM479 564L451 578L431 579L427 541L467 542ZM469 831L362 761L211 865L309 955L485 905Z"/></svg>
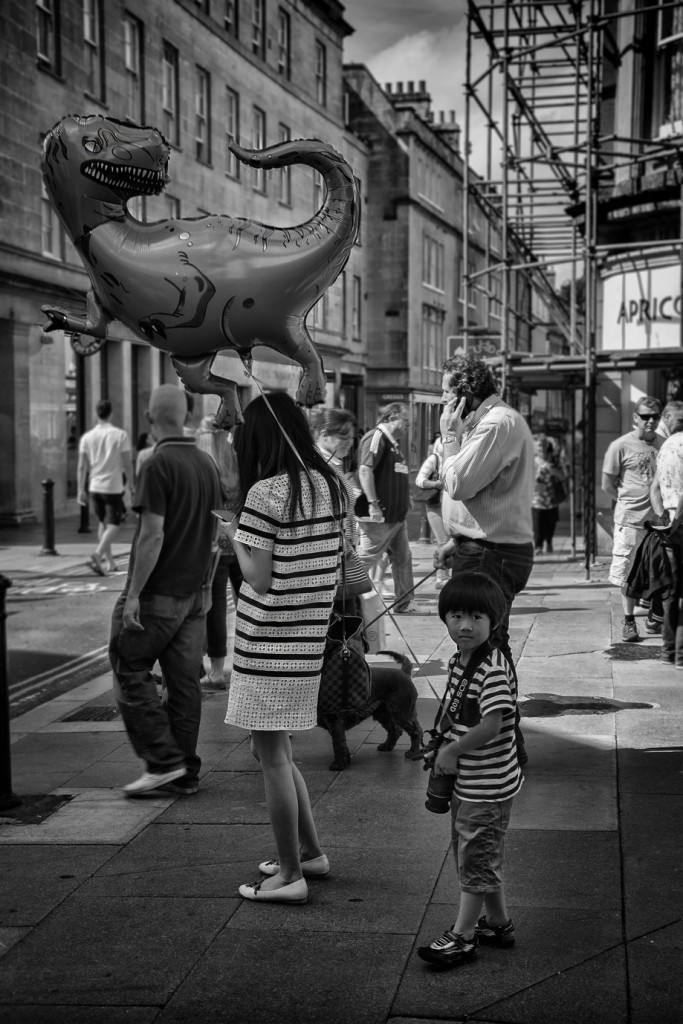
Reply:
<svg viewBox="0 0 683 1024"><path fill-rule="evenodd" d="M75 893L3 957L0 1000L164 1006L239 902Z"/></svg>

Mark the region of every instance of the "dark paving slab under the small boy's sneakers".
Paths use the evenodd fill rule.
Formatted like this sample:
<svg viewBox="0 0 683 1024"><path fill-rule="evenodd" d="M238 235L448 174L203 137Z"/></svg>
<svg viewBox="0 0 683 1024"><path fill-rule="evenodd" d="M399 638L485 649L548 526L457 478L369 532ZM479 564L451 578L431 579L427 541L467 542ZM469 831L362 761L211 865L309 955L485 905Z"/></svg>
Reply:
<svg viewBox="0 0 683 1024"><path fill-rule="evenodd" d="M427 945L453 925L457 912L454 904L430 906L417 938L416 946ZM517 942L512 949L481 947L478 957L471 964L454 971L441 972L424 964L417 955L411 956L401 977L392 1013L398 1017L435 1017L444 1021L469 1019L477 1016L483 1020L505 1022L523 1021L524 1024L547 1024L548 1021L573 1022L582 1019L586 1024L596 1024L602 1016L595 1011L602 1001L598 994L609 999L610 994L625 1005L626 957L623 950L615 950L622 938L621 915L606 912L596 915L594 910L520 908L515 912ZM567 975L596 957L609 953L610 974L604 968L595 971L593 991L593 1017L574 1018L574 995L581 985L569 984ZM512 1016L512 1010L499 1013L503 1000L514 1005L529 989L548 982L560 981L568 997L555 998L544 1007L539 1000L533 1016L521 1013ZM618 993L622 992L620 996ZM612 1008L605 1002L607 1014ZM495 1009L494 1009L495 1008ZM562 1016L556 1015L561 1010ZM600 1011L601 1012L601 1011ZM545 1016L544 1016L545 1013ZM626 1024L626 1018L607 1016L607 1024Z"/></svg>

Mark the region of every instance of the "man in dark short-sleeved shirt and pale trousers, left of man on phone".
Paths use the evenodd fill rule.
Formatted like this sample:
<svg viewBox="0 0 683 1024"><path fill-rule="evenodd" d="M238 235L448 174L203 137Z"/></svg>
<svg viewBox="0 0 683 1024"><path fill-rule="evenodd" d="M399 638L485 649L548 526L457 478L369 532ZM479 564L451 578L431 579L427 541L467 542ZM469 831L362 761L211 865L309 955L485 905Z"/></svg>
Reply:
<svg viewBox="0 0 683 1024"><path fill-rule="evenodd" d="M362 488L356 504L360 530L358 555L372 577L387 552L397 612L411 611L413 590L413 555L405 522L411 507L410 477L399 444L399 439L408 433L409 422L407 406L399 401L384 406L377 427L361 437L358 447L358 479Z"/></svg>

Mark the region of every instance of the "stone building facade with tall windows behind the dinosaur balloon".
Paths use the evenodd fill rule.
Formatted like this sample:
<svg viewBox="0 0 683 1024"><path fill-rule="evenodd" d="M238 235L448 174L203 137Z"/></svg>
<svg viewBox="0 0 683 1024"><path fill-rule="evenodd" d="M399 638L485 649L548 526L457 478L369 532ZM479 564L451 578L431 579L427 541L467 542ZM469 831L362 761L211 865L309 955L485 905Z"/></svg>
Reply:
<svg viewBox="0 0 683 1024"><path fill-rule="evenodd" d="M87 278L47 201L44 133L66 114L131 117L172 145L170 183L137 201L140 220L229 213L279 226L307 220L323 200L308 168L257 174L226 147L234 135L262 148L322 138L342 153L361 187L368 148L344 122L342 54L351 32L336 0L36 0L0 9L0 117L4 139L0 239L0 521L40 513L41 481L54 480L56 515L73 511L77 442L102 396L135 441L151 390L176 382L167 355L125 329L92 356L60 332L45 334L44 304L83 308ZM328 401L364 406L368 249L309 314L329 380ZM298 368L263 347L254 373L293 390ZM240 376L233 356L218 373ZM217 399L198 398L195 423Z"/></svg>

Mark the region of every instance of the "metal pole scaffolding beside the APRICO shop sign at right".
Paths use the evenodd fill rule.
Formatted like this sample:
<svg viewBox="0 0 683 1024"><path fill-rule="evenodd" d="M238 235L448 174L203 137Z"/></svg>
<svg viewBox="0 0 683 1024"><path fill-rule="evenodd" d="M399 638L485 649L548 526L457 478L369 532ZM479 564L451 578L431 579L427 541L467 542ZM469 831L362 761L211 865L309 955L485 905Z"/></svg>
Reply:
<svg viewBox="0 0 683 1024"><path fill-rule="evenodd" d="M681 3L667 6L669 14L683 8ZM643 17L660 12L661 7L661 3L636 7L635 2L620 4L618 0L468 3L463 335L467 343L468 334L475 336L477 330L482 330L468 322L471 294L499 296L503 313L495 326L500 327L497 361L504 389L509 391L516 379L524 380L530 389L536 386L581 391L583 445L578 504L582 510L587 579L597 551L599 267L610 254L625 247L623 242L603 241L604 232L599 232L598 224L599 203L621 170L629 173L629 168L659 158L671 165L681 144L680 135L653 141L613 132L604 134L601 103L605 85L613 86L613 69L622 56L617 23L631 18L635 35L634 19L640 18L638 25L642 27ZM674 17L683 20L683 11ZM477 119L485 127L482 174L471 171L467 159L472 153ZM468 252L473 244L469 219L472 208L477 207L493 226L484 246L484 265L474 270ZM557 295L558 271L568 280L568 305ZM520 278L543 297L545 321L538 314L529 315L528 307L515 303ZM487 329L494 330L490 318ZM529 337L544 329L561 332L561 354L533 351ZM631 357L635 358L633 352ZM604 366L609 367L609 360ZM618 369L618 360L613 360L612 368ZM571 427L573 435L573 416ZM575 473L572 475L575 477ZM572 496L577 494L573 482ZM575 550L573 500L570 516Z"/></svg>

